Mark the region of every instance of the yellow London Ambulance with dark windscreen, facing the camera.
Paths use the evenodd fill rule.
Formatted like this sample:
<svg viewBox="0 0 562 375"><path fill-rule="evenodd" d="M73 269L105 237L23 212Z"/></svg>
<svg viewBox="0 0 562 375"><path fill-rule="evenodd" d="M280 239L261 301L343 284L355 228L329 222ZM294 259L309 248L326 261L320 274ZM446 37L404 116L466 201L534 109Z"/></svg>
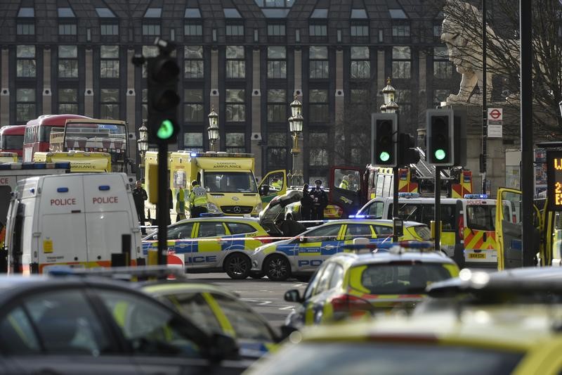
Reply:
<svg viewBox="0 0 562 375"><path fill-rule="evenodd" d="M188 212L188 194L191 182L197 180L207 189L209 212L228 216L257 217L262 209L261 196L254 176L254 155L250 153L223 153L174 151L168 153L169 186L174 198L174 209ZM149 201L157 194L158 153L145 155L145 189ZM156 217L155 205L147 203L149 217ZM175 215L174 215L175 216Z"/></svg>

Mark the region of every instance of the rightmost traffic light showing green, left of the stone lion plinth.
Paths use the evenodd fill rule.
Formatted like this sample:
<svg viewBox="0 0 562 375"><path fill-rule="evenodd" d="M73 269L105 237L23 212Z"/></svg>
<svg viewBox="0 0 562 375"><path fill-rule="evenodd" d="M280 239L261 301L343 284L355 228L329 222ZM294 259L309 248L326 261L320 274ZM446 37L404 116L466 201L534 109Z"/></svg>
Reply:
<svg viewBox="0 0 562 375"><path fill-rule="evenodd" d="M455 134L452 110L427 110L427 150L429 164L455 165Z"/></svg>

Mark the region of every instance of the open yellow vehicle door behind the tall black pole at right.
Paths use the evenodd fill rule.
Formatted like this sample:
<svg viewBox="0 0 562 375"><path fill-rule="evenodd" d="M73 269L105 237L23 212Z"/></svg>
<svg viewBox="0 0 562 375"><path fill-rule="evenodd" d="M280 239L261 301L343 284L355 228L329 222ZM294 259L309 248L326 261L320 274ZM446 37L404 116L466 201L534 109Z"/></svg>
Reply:
<svg viewBox="0 0 562 375"><path fill-rule="evenodd" d="M495 234L497 269L523 267L523 212L520 190L497 189ZM533 205L533 253L540 251L540 212Z"/></svg>

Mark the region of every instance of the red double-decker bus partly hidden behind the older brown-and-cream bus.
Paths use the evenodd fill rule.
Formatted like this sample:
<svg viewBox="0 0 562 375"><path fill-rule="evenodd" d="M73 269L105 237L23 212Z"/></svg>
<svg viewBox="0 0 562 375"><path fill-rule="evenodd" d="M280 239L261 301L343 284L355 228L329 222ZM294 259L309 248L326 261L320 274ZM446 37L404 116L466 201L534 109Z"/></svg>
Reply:
<svg viewBox="0 0 562 375"><path fill-rule="evenodd" d="M86 119L90 117L81 115L41 115L36 119L27 121L25 136L23 137L23 161L33 161L33 154L37 151L50 151L51 130L53 127L64 128L66 120Z"/></svg>

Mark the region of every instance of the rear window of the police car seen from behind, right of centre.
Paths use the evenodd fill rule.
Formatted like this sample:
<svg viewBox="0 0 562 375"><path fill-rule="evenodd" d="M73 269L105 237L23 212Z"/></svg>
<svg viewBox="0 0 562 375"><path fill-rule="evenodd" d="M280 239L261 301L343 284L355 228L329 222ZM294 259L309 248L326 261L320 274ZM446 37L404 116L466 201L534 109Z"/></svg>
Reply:
<svg viewBox="0 0 562 375"><path fill-rule="evenodd" d="M350 269L349 286L370 294L424 293L426 286L451 277L441 263L385 262Z"/></svg>

